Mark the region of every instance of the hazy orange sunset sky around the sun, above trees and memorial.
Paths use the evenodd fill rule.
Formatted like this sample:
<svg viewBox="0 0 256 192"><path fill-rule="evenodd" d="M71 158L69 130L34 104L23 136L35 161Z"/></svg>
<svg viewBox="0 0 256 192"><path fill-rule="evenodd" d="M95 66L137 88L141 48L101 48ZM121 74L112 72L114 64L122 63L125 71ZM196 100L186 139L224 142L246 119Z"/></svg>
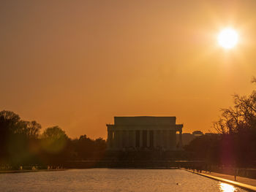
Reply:
<svg viewBox="0 0 256 192"><path fill-rule="evenodd" d="M256 1L1 1L0 110L74 138L114 116L212 130L256 75ZM224 50L222 28L238 31Z"/></svg>

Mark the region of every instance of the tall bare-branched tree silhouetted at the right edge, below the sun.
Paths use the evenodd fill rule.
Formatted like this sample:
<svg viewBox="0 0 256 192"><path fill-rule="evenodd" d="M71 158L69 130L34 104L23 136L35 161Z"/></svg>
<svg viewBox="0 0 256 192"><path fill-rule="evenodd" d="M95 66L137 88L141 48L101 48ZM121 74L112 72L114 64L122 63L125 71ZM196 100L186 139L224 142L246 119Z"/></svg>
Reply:
<svg viewBox="0 0 256 192"><path fill-rule="evenodd" d="M234 106L222 110L214 128L222 134L222 161L244 166L256 160L256 91L233 99Z"/></svg>

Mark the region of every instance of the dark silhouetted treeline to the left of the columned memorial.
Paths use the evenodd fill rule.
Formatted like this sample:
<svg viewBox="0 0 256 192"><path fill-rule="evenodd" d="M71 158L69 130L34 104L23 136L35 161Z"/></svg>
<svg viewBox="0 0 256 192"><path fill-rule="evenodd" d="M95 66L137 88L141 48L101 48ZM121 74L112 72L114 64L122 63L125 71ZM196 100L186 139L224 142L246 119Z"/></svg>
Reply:
<svg viewBox="0 0 256 192"><path fill-rule="evenodd" d="M67 161L100 159L105 153L102 138L86 135L70 139L59 126L46 128L36 121L21 120L15 112L0 112L0 166L60 165Z"/></svg>

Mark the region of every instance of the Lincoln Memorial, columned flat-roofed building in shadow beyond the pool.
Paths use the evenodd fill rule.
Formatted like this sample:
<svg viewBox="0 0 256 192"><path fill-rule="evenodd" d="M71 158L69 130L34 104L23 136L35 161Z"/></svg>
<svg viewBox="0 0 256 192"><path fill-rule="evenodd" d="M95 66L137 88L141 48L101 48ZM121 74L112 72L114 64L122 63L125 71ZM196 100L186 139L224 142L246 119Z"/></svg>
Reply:
<svg viewBox="0 0 256 192"><path fill-rule="evenodd" d="M176 117L114 117L108 127L108 150L181 150L182 124ZM176 132L179 132L178 148Z"/></svg>

